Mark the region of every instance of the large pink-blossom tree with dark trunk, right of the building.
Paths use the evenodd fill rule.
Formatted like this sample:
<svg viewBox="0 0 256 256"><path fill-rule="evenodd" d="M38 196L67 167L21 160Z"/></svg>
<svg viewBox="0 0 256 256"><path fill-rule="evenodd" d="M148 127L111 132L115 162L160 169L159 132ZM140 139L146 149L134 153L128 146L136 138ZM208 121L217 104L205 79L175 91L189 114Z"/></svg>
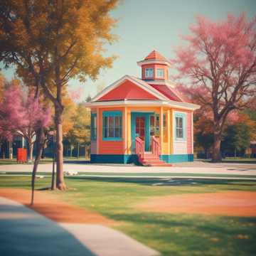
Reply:
<svg viewBox="0 0 256 256"><path fill-rule="evenodd" d="M211 113L213 161L220 161L220 142L228 114L255 104L256 17L228 15L222 22L200 16L187 46L176 50L174 65L183 92ZM186 86L184 86L186 83Z"/></svg>

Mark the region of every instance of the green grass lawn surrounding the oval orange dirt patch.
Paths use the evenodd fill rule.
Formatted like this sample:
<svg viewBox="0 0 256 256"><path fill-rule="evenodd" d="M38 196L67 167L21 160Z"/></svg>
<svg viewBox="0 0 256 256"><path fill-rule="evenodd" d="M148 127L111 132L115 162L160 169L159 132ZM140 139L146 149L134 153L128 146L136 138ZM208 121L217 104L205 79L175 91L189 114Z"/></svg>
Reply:
<svg viewBox="0 0 256 256"><path fill-rule="evenodd" d="M162 255L256 255L256 218L146 213L136 205L152 196L216 191L256 191L256 181L68 177L69 191L48 191L64 201L119 221L122 230ZM193 182L193 183L192 183ZM196 183L195 183L196 182ZM152 186L161 183L161 186ZM29 188L28 176L0 176L0 187ZM36 181L50 186L50 178Z"/></svg>

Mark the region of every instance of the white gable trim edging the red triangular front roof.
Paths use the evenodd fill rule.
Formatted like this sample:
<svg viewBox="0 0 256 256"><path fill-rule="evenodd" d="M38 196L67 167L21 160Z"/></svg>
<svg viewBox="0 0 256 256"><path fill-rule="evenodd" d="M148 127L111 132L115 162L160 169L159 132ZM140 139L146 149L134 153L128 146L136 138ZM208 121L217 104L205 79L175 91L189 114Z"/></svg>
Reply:
<svg viewBox="0 0 256 256"><path fill-rule="evenodd" d="M134 83L135 85L142 88L142 90L145 90L146 92L149 92L151 95L154 95L155 97L159 98L159 100L169 100L167 97L165 97L161 92L151 87L149 84L142 80L138 80L137 78L133 78L130 75L124 75L122 78L117 80L116 82L113 82L112 85L109 85L106 87L102 92L98 93L94 98L92 98L91 102L95 102L99 100L101 97L106 95L111 90L114 90L114 88L118 87L122 84L125 80L129 80L130 82Z"/></svg>

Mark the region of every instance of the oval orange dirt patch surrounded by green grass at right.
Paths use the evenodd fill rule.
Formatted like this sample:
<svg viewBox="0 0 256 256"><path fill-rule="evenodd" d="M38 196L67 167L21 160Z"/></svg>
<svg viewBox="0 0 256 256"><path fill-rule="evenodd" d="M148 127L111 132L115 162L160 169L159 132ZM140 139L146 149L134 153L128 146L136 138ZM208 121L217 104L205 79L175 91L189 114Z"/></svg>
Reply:
<svg viewBox="0 0 256 256"><path fill-rule="evenodd" d="M256 216L256 192L223 191L150 198L138 206L154 213Z"/></svg>

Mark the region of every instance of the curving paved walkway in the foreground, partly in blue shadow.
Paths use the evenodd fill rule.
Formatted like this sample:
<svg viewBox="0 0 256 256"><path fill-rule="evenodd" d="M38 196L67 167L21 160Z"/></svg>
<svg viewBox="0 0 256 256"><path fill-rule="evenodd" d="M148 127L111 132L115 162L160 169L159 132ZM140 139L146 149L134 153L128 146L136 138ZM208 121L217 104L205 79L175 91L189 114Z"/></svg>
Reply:
<svg viewBox="0 0 256 256"><path fill-rule="evenodd" d="M0 255L154 256L158 252L102 225L58 223L0 197Z"/></svg>

